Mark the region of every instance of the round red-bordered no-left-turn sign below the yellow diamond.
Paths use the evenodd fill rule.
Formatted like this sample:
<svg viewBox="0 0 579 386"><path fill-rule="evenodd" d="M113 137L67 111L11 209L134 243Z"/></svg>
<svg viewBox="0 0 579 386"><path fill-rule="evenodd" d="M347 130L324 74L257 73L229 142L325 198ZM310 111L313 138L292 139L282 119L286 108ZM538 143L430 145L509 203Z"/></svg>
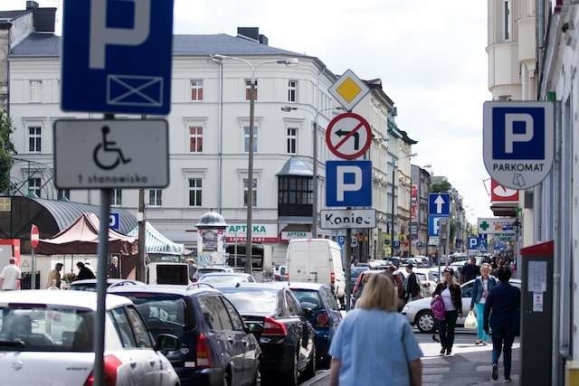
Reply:
<svg viewBox="0 0 579 386"><path fill-rule="evenodd" d="M344 113L327 125L326 143L329 151L343 159L364 155L372 143L372 129L355 113Z"/></svg>

